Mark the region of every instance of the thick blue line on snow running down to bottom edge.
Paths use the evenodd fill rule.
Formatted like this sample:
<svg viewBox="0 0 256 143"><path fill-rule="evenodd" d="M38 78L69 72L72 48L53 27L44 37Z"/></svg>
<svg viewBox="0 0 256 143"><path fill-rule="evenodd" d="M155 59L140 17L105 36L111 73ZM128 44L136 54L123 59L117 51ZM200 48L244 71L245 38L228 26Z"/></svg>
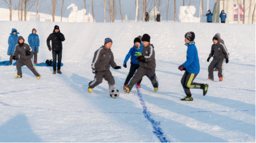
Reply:
<svg viewBox="0 0 256 143"><path fill-rule="evenodd" d="M163 143L169 143L168 140L166 140L165 137L163 137L163 133L162 133L162 129L160 128L160 122L156 122L154 119L150 118L150 112L147 109L147 106L145 105L145 101L142 99L142 95L140 93L140 90L138 87L136 87L137 89L137 95L139 96L139 100L141 101L141 106L143 107L143 114L145 116L145 118L148 119L149 122L151 122L151 124L153 125L153 129L154 129L154 134L156 135L156 137L158 137L158 139Z"/></svg>

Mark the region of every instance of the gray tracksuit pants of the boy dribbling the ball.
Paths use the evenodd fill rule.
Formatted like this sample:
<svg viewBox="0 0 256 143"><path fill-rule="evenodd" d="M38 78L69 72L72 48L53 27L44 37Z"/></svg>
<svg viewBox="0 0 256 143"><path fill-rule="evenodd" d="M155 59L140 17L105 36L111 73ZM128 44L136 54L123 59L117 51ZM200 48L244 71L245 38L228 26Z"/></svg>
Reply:
<svg viewBox="0 0 256 143"><path fill-rule="evenodd" d="M115 79L109 69L105 71L97 71L94 76L94 81L89 82L89 87L94 88L101 84L103 78L105 81L108 81L109 90L115 88Z"/></svg>

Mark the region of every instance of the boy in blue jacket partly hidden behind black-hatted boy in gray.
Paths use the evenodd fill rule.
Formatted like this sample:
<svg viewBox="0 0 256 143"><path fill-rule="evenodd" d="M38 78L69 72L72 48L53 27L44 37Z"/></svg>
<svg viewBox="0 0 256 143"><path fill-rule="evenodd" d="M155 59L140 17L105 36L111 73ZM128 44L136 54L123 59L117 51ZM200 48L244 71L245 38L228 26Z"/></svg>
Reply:
<svg viewBox="0 0 256 143"><path fill-rule="evenodd" d="M129 50L128 54L125 57L125 60L123 62L123 67L127 68L127 61L129 60L129 58L131 57L131 67L130 67L130 71L129 74L126 77L126 80L124 82L123 87L126 87L130 81L130 79L133 77L135 71L140 67L140 63L136 61L136 57L137 56L142 56L142 49L143 49L143 44L141 43L141 39L139 37L136 37L134 39L134 46ZM141 81L137 82L137 87L141 88Z"/></svg>

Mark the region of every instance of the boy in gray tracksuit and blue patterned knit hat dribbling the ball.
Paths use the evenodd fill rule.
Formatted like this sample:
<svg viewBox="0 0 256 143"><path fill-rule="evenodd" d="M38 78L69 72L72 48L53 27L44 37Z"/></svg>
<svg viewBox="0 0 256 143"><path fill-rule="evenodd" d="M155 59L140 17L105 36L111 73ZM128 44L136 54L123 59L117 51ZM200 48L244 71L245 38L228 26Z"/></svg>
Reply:
<svg viewBox="0 0 256 143"><path fill-rule="evenodd" d="M99 85L104 78L108 81L109 90L115 88L115 79L111 74L109 68L110 66L115 69L121 69L117 66L114 61L114 55L111 51L113 41L110 38L106 38L104 45L100 49L96 50L94 53L92 69L94 76L94 81L89 82L88 91L91 93L93 88Z"/></svg>

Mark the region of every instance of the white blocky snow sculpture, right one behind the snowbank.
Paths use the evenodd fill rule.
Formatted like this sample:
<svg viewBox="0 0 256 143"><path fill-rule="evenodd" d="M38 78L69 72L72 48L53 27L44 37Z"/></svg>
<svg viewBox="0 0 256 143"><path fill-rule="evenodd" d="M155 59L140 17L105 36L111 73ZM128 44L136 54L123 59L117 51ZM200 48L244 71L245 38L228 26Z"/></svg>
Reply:
<svg viewBox="0 0 256 143"><path fill-rule="evenodd" d="M194 17L195 6L180 6L179 21L180 22L200 22L200 18Z"/></svg>

